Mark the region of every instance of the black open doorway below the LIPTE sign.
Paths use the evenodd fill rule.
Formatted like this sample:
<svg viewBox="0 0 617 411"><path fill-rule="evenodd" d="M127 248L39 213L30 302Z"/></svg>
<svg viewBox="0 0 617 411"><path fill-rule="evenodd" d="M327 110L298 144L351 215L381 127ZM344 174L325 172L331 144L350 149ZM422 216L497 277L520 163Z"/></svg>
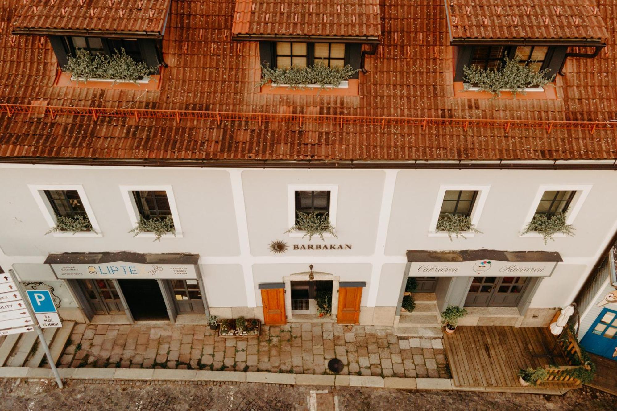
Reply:
<svg viewBox="0 0 617 411"><path fill-rule="evenodd" d="M135 321L169 320L157 280L118 280Z"/></svg>

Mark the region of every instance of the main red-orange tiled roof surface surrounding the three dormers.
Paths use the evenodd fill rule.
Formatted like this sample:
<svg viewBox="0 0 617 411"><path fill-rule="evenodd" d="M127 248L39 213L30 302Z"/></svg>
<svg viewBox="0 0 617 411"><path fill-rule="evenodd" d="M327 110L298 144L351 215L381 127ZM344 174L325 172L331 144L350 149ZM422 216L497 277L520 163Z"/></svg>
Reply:
<svg viewBox="0 0 617 411"><path fill-rule="evenodd" d="M0 104L396 117L617 118L617 0L600 0L611 31L595 59L568 59L558 99L455 98L442 0L384 0L383 44L366 57L360 96L261 94L259 47L232 42L232 0L172 1L159 91L53 86L56 59L39 36L6 27L23 0L0 4ZM367 47L367 46L365 46ZM367 47L368 48L368 47ZM573 48L574 50L574 48ZM587 51L587 49L580 49ZM616 159L613 130L225 122L0 114L1 157L66 159L537 160Z"/></svg>

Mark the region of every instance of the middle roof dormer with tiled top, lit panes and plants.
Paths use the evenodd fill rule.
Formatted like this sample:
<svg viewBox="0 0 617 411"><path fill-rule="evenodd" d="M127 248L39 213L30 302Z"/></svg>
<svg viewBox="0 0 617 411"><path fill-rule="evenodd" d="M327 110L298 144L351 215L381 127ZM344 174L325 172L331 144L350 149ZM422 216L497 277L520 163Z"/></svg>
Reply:
<svg viewBox="0 0 617 411"><path fill-rule="evenodd" d="M313 88L357 95L362 61L375 54L380 35L377 0L236 0L232 27L233 41L259 42L262 93L307 93ZM320 76L329 83L320 83ZM276 80L285 78L305 83Z"/></svg>

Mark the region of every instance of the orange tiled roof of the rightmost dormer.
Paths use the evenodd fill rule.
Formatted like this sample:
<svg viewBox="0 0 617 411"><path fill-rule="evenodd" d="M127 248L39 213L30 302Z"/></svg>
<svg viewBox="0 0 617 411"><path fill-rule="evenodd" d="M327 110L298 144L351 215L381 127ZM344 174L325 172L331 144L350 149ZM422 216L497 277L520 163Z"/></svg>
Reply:
<svg viewBox="0 0 617 411"><path fill-rule="evenodd" d="M594 0L445 0L451 38L605 39Z"/></svg>

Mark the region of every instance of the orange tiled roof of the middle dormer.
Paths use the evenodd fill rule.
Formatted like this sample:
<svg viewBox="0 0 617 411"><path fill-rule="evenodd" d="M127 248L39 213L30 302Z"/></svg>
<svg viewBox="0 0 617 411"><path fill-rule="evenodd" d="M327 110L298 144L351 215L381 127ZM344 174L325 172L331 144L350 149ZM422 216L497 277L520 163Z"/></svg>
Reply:
<svg viewBox="0 0 617 411"><path fill-rule="evenodd" d="M379 36L378 0L236 0L236 35Z"/></svg>

